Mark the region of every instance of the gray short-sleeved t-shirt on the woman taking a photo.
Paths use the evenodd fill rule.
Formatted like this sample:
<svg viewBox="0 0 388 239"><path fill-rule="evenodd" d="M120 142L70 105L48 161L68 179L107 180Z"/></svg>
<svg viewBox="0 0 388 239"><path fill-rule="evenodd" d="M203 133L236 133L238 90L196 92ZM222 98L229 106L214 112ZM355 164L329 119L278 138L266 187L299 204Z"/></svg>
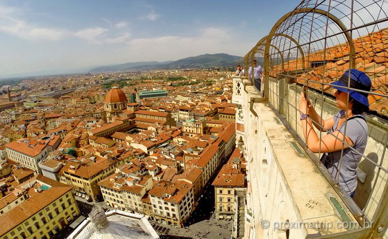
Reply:
<svg viewBox="0 0 388 239"><path fill-rule="evenodd" d="M345 112L339 111L334 117L334 125L329 130L330 133L336 131L339 119ZM358 116L358 117L357 117ZM363 117L361 119L359 116ZM365 147L368 140L368 124L366 122L365 114L355 115L347 120L346 133L345 123L339 129L339 132L348 136L354 143L353 148L359 153L364 154ZM357 187L356 167L361 160L361 155L357 154L354 149L344 149L342 155L341 170L339 172L339 185L349 195L352 194ZM332 174L333 178L337 178L339 159L341 157L341 150L329 152L323 158L327 170Z"/></svg>

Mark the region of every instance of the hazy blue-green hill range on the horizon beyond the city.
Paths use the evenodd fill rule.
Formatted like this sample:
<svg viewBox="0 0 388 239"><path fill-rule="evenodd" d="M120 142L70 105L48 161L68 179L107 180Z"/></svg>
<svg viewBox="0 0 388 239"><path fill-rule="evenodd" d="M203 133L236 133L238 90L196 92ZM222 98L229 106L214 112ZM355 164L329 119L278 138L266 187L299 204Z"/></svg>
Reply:
<svg viewBox="0 0 388 239"><path fill-rule="evenodd" d="M89 72L117 72L130 70L149 69L202 69L212 67L234 66L241 57L231 56L225 53L204 54L196 57L188 57L176 61L146 61L129 62L119 65L101 66L93 68Z"/></svg>

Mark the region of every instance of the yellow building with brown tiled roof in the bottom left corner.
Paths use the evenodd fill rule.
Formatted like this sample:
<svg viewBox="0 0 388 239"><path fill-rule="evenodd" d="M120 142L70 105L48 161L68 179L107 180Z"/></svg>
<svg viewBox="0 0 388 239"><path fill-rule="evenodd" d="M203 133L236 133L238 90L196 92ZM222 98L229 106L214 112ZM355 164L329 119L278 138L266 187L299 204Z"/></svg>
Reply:
<svg viewBox="0 0 388 239"><path fill-rule="evenodd" d="M49 239L80 214L72 187L37 175L0 199L1 239Z"/></svg>

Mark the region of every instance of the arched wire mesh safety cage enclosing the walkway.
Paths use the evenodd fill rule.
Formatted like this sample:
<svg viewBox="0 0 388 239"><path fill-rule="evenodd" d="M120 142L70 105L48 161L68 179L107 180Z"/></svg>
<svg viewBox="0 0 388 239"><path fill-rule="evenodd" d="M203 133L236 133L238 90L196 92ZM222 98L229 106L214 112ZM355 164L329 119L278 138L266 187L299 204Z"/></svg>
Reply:
<svg viewBox="0 0 388 239"><path fill-rule="evenodd" d="M332 83L348 69L365 72L372 81L369 93L369 138L360 165L367 171L370 187L364 195L352 200L339 188L339 174L332 178L320 163L321 146L311 154L323 175L337 189L343 201L361 223L372 221L379 202L384 198L388 178L388 159L385 154L388 140L388 2L386 0L303 0L294 10L279 19L267 36L260 39L242 59L245 71L253 67L253 60L263 66L261 92L294 136L304 144L305 137L298 104L303 86L306 95L321 119L332 117L335 112L336 90ZM253 75L247 75L252 83ZM255 87L256 87L256 83ZM348 84L345 91L355 90ZM349 98L346 109L349 106ZM345 117L346 118L346 117ZM374 118L375 121L371 119ZM310 120L315 124L321 122ZM348 120L344 122L344 134ZM318 131L319 138L332 134L341 142L339 170L342 169L344 147L353 149L344 137L328 130ZM306 144L305 144L306 145ZM307 149L308 151L308 149ZM362 170L361 170L362 171ZM358 198L358 199L357 199Z"/></svg>

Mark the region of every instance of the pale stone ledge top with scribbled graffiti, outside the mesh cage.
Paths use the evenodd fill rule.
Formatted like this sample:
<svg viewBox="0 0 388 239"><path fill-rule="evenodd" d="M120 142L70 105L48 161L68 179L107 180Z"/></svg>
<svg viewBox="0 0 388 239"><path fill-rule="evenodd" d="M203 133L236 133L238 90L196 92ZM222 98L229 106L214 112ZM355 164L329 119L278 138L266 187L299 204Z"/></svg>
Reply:
<svg viewBox="0 0 388 239"><path fill-rule="evenodd" d="M342 222L336 216L336 210L326 197L327 194L331 194L339 201L350 220L357 223L350 210L296 139L283 124L279 125L275 122L276 115L272 109L266 104L254 104L253 110L258 114L258 121L264 134L269 138L268 145L272 148L273 162L276 164L289 192L292 206L298 212L300 219L304 222L311 220L331 222L333 225ZM304 154L298 154L291 146L291 142L295 142ZM306 229L308 234L317 233L311 228ZM325 235L341 231L346 231L346 229L339 228L331 232L321 231L321 233Z"/></svg>

